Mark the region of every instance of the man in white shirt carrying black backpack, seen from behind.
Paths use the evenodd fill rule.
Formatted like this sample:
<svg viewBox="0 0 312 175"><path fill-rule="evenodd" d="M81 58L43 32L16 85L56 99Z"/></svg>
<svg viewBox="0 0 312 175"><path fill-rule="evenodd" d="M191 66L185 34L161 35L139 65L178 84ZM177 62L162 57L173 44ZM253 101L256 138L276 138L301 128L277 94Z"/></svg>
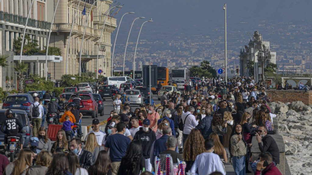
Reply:
<svg viewBox="0 0 312 175"><path fill-rule="evenodd" d="M44 115L43 107L41 104L39 104L39 98L35 97L35 102L30 105L30 116L32 119L32 123L34 123L34 126L32 127L32 133L33 136L37 137L37 131L39 131L39 128L42 123L42 116Z"/></svg>

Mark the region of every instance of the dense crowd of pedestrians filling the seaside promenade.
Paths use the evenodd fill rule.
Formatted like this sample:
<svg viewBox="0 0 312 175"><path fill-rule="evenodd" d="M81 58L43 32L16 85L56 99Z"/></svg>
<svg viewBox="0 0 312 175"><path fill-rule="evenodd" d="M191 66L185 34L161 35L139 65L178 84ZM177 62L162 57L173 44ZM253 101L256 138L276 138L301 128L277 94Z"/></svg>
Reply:
<svg viewBox="0 0 312 175"><path fill-rule="evenodd" d="M3 162L0 171L6 175L150 175L155 158L160 158L164 170L163 158L170 154L173 163L185 161L185 172L192 175L224 175L225 163L232 163L237 175L250 172L249 166L255 174L281 174L276 168L279 149L271 137L276 115L268 106L266 86L246 77L206 83L207 87L181 94L165 92L158 107L132 111L126 103L115 108L105 130L100 130L98 119L92 121L84 143L78 138L68 140L61 129L51 145L45 128L38 127L37 140L31 140L35 147L23 149L13 163ZM66 111L71 116L70 109ZM252 140L258 145L252 145ZM259 147L261 155L251 162L253 146Z"/></svg>

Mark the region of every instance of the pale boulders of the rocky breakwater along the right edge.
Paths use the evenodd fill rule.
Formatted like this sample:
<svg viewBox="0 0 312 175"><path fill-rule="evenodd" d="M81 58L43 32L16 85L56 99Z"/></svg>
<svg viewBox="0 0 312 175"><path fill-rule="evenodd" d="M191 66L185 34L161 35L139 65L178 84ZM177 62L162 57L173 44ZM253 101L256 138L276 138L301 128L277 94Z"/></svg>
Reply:
<svg viewBox="0 0 312 175"><path fill-rule="evenodd" d="M285 155L293 175L312 174L312 108L303 102L271 102L278 130L285 142Z"/></svg>

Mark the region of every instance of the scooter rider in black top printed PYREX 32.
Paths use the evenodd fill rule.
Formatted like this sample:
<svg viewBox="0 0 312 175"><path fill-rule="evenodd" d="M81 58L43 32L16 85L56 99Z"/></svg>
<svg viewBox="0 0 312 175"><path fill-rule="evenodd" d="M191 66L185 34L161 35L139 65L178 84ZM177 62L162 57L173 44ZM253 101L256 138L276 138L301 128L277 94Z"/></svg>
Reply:
<svg viewBox="0 0 312 175"><path fill-rule="evenodd" d="M18 120L17 114L13 113L11 109L5 111L6 118L2 122L0 130L3 132L4 135L4 150L7 147L7 138L10 136L15 136L20 138L20 148L23 149L23 136L21 134L23 125L21 121ZM4 126L6 127L5 130L3 129Z"/></svg>

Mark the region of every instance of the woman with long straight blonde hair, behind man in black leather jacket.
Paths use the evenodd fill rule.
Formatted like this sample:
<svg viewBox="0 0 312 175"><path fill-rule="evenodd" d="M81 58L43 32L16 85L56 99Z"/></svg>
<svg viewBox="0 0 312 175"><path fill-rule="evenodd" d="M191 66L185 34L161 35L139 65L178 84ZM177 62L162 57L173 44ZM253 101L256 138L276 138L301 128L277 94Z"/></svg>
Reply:
<svg viewBox="0 0 312 175"><path fill-rule="evenodd" d="M92 153L92 162L95 162L99 152L104 150L104 147L98 144L95 134L90 132L88 134L87 140L85 141L84 150L90 151Z"/></svg>

